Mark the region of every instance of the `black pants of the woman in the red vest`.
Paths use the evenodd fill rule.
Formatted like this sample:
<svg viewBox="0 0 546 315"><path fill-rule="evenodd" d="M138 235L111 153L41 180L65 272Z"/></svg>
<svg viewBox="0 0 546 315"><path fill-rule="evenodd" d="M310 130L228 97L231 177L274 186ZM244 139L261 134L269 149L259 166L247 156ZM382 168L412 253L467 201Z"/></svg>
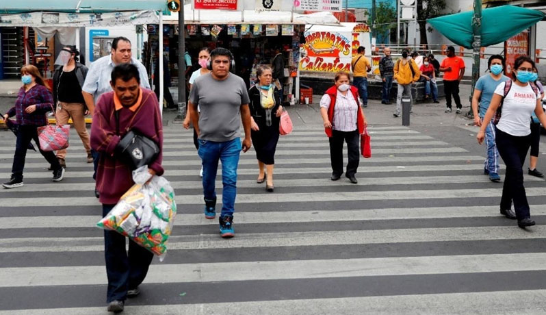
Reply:
<svg viewBox="0 0 546 315"><path fill-rule="evenodd" d="M347 142L347 152L349 163L347 164L346 176L356 174L356 168L359 167L359 131L332 131L330 139L330 161L332 162L332 174L343 174L343 141Z"/></svg>

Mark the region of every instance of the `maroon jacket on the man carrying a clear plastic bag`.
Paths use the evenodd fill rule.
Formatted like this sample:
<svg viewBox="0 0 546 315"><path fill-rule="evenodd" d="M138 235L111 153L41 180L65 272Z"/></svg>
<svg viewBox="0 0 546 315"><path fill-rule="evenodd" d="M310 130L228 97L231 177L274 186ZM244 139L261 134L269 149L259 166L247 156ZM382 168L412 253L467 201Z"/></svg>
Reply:
<svg viewBox="0 0 546 315"><path fill-rule="evenodd" d="M101 153L99 167L96 170L96 190L101 194L99 201L105 204L118 203L120 197L135 184L131 168L116 158L114 150L127 129L135 129L140 134L154 140L159 146L159 155L155 162L148 165L158 176L164 172L163 160L163 125L157 97L151 90L141 89L140 105L133 108L120 108L119 130L116 132L114 110L114 92L101 96L93 113L91 126L91 147ZM137 102L138 103L138 102ZM134 112L133 112L134 110Z"/></svg>

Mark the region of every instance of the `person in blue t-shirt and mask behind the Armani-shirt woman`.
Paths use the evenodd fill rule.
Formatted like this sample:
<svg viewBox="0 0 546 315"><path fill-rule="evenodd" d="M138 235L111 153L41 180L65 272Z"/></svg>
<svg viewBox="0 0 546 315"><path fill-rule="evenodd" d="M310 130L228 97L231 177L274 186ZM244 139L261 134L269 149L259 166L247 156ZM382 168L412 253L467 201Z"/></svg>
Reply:
<svg viewBox="0 0 546 315"><path fill-rule="evenodd" d="M489 74L482 75L472 97L472 110L474 113L474 124L482 125L485 113L491 103L491 98L495 92L495 88L509 78L502 74L504 70L504 58L502 55L492 55L487 62ZM493 121L485 129L485 143L487 150L487 158L484 162L484 174L489 175L491 181L500 181L499 176L499 151L495 144L495 125Z"/></svg>

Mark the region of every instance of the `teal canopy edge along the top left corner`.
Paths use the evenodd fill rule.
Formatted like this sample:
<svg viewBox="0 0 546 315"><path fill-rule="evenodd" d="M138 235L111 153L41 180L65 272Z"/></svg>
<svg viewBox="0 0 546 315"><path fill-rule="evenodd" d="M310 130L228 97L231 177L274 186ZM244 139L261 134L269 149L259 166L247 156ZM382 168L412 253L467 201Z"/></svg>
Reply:
<svg viewBox="0 0 546 315"><path fill-rule="evenodd" d="M3 0L0 13L22 13L32 11L50 12L120 12L142 10L167 10L166 0Z"/></svg>

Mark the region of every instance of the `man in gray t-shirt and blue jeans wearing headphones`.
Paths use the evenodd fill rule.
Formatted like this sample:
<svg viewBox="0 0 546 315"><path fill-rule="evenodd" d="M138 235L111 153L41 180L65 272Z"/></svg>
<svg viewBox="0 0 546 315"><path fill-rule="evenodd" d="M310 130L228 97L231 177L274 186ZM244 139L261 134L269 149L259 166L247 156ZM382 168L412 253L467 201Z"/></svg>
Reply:
<svg viewBox="0 0 546 315"><path fill-rule="evenodd" d="M250 110L248 92L243 79L229 68L233 55L224 48L211 51L212 72L198 77L192 85L188 108L197 133L198 154L203 160L203 194L205 195L205 218L216 217L216 171L222 161L222 213L220 214L220 236L231 238L233 212L237 194L237 164L239 153L250 149ZM200 112L197 112L197 106ZM240 115L240 116L239 116ZM244 127L241 143L239 127Z"/></svg>

